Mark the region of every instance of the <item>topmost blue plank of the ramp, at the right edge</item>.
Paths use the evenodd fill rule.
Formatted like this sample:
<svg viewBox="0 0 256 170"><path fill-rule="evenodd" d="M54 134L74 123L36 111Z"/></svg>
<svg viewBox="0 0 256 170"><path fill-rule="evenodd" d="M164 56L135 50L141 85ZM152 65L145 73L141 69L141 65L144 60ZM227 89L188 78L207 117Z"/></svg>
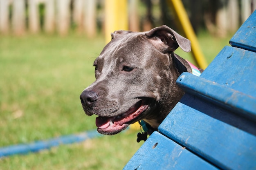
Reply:
<svg viewBox="0 0 256 170"><path fill-rule="evenodd" d="M231 46L256 52L256 11L238 29L229 43Z"/></svg>

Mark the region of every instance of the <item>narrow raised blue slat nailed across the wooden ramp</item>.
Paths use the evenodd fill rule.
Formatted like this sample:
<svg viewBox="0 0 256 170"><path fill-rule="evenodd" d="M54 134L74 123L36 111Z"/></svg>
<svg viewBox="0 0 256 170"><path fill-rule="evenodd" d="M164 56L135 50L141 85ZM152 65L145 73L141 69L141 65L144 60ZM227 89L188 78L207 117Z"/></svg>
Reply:
<svg viewBox="0 0 256 170"><path fill-rule="evenodd" d="M254 120L256 124L256 97L187 72L182 73L176 83L186 93L208 99L242 117Z"/></svg>

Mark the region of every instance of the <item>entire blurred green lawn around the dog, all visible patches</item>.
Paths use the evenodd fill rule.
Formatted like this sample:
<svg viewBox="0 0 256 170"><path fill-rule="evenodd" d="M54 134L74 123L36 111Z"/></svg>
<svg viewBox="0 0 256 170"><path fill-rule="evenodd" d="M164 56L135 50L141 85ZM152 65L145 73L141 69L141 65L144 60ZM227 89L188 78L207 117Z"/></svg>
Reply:
<svg viewBox="0 0 256 170"><path fill-rule="evenodd" d="M208 63L230 38L214 38L206 32L198 35ZM104 44L100 37L88 40L79 35L1 35L0 147L95 129L95 117L85 116L79 95L94 81L92 64ZM181 50L177 54L191 60ZM137 144L136 134L127 130L3 158L0 169L122 169L142 144Z"/></svg>

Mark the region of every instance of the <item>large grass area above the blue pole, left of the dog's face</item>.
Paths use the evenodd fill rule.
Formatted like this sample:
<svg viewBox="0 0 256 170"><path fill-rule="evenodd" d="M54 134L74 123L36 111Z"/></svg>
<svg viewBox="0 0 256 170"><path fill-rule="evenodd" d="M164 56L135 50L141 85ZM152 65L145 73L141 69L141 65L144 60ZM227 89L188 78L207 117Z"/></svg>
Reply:
<svg viewBox="0 0 256 170"><path fill-rule="evenodd" d="M103 45L80 37L1 38L0 146L94 128L79 95L94 81Z"/></svg>

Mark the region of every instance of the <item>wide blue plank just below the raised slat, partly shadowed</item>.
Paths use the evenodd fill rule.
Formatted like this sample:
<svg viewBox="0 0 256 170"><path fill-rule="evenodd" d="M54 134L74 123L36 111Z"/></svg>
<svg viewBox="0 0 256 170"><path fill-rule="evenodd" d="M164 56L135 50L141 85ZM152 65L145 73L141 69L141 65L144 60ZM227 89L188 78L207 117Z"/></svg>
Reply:
<svg viewBox="0 0 256 170"><path fill-rule="evenodd" d="M223 108L186 94L158 130L221 169L256 169L256 136L225 123L243 122L230 115Z"/></svg>

